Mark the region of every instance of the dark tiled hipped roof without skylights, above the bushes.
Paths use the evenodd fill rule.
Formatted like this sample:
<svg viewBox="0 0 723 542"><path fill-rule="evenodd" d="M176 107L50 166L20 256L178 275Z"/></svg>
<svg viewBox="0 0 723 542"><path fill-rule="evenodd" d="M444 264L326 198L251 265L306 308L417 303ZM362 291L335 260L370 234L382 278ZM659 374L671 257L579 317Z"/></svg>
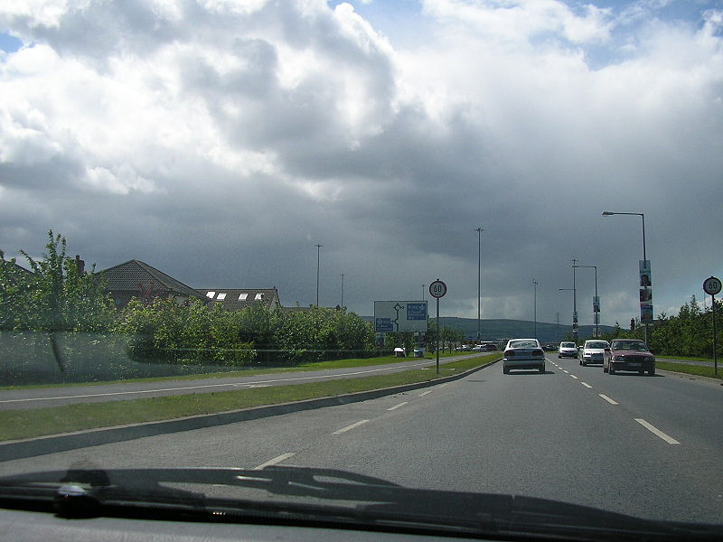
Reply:
<svg viewBox="0 0 723 542"><path fill-rule="evenodd" d="M186 297L203 299L203 295L199 294L191 286L184 285L174 279L173 276L168 276L163 271L159 271L155 267L136 259L108 267L108 269L100 271L100 275L106 280L106 288L111 292L138 292L140 290L153 292L161 290Z"/></svg>

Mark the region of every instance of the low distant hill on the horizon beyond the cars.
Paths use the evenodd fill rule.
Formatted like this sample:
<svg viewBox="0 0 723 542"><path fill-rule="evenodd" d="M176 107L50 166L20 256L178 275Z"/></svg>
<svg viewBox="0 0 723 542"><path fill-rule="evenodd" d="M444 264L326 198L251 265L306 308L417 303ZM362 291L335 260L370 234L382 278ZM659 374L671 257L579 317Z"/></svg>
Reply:
<svg viewBox="0 0 723 542"><path fill-rule="evenodd" d="M374 321L372 316L362 316L364 320ZM454 330L465 332L468 339L477 337L476 318L456 318L454 316L440 316L439 324L450 327ZM598 326L601 333L613 332L612 325ZM578 329L579 339L592 337L594 325L580 325ZM565 339L567 334L572 334L572 326L569 324L549 322L537 322L537 338L540 342L559 342ZM533 337L535 334L535 322L531 320L506 320L491 319L482 320L480 323L480 334L483 341L495 341L497 339L512 339L515 337Z"/></svg>

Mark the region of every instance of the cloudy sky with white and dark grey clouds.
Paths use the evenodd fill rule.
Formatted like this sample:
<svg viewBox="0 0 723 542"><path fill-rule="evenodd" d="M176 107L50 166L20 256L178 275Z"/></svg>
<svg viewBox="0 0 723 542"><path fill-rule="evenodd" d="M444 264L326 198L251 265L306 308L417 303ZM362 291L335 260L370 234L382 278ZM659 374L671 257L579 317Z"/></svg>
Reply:
<svg viewBox="0 0 723 542"><path fill-rule="evenodd" d="M625 326L643 220L611 210L644 213L656 316L723 275L723 0L0 0L0 33L21 264L52 229L285 306L317 263L362 315L439 278L469 318L479 270L482 318L563 323L575 274L590 324L576 259Z"/></svg>

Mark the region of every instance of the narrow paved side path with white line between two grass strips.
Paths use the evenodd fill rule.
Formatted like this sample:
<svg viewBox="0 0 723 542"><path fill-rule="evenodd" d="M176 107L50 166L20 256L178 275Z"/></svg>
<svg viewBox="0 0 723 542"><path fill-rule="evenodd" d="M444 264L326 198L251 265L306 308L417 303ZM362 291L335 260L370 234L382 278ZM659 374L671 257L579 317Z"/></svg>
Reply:
<svg viewBox="0 0 723 542"><path fill-rule="evenodd" d="M441 364L468 358L470 355L442 358ZM223 377L198 379L168 379L154 382L117 382L90 386L64 386L60 388L22 388L0 390L0 410L43 408L73 403L101 403L105 401L127 401L142 397L164 397L194 393L212 393L233 389L261 388L305 384L337 378L362 378L389 374L408 369L432 367L437 360L410 359L398 363L354 367L347 369L325 369L315 371L275 372L249 377Z"/></svg>

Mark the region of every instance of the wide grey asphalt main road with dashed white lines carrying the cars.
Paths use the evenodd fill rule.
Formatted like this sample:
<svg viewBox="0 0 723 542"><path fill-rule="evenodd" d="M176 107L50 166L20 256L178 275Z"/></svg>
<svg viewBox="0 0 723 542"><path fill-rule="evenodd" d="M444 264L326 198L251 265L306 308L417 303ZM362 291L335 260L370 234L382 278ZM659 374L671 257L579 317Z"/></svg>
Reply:
<svg viewBox="0 0 723 542"><path fill-rule="evenodd" d="M495 364L425 390L7 461L0 473L278 463L723 523L718 382L548 359L544 374Z"/></svg>

